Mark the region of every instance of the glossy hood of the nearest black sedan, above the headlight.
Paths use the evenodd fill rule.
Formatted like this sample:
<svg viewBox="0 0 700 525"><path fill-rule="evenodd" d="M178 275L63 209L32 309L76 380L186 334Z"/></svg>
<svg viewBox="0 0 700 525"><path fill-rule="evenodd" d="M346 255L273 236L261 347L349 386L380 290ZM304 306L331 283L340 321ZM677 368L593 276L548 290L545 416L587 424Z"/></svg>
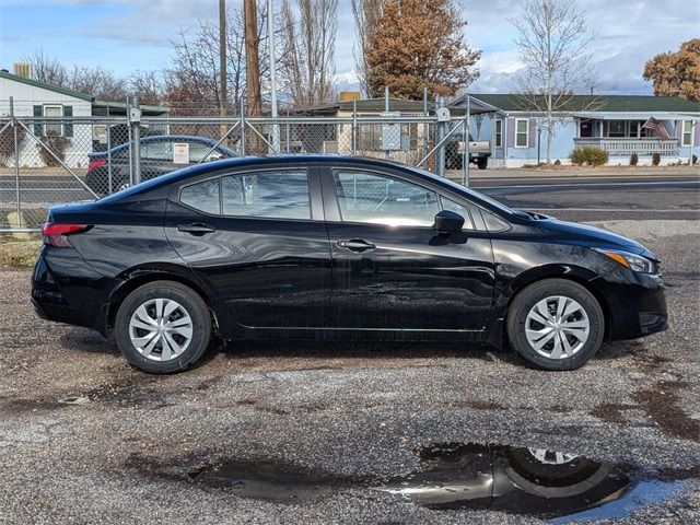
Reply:
<svg viewBox="0 0 700 525"><path fill-rule="evenodd" d="M537 231L545 237L551 237L552 242L575 241L579 244L591 247L620 249L657 260L654 254L637 241L603 230L602 228L560 221L549 217L537 219L533 222Z"/></svg>

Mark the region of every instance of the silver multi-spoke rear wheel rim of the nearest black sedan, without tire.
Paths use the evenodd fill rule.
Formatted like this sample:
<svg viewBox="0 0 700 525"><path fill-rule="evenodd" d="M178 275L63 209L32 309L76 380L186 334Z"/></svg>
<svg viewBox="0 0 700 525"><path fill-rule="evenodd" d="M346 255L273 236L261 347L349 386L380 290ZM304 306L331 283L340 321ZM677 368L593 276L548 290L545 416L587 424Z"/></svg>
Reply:
<svg viewBox="0 0 700 525"><path fill-rule="evenodd" d="M172 299L151 299L141 304L129 320L133 348L152 361L172 361L192 339L192 319L185 307Z"/></svg>

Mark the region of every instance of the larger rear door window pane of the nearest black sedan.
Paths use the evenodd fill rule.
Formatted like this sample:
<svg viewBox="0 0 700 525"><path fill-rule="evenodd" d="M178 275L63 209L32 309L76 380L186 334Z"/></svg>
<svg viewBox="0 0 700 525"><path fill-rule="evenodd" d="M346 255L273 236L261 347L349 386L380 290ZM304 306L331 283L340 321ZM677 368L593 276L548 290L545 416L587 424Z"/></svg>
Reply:
<svg viewBox="0 0 700 525"><path fill-rule="evenodd" d="M221 178L224 215L311 219L304 171L258 172Z"/></svg>

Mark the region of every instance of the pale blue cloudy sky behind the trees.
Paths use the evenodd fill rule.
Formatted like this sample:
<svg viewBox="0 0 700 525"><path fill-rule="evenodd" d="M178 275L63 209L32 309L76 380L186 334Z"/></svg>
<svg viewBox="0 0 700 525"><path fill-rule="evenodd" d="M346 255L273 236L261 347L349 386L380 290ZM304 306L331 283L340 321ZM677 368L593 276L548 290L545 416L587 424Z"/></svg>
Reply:
<svg viewBox="0 0 700 525"><path fill-rule="evenodd" d="M273 0L279 4L280 0ZM483 50L477 92L508 92L523 65L509 16L520 0L459 0L471 46ZM240 0L229 0L230 5ZM697 0L580 0L595 34L591 52L602 93L650 93L645 60L700 37ZM117 74L167 67L171 39L197 19L215 20L218 0L0 0L0 67L43 49L66 65L103 66ZM336 42L341 82L353 78L354 28L349 0L339 0Z"/></svg>

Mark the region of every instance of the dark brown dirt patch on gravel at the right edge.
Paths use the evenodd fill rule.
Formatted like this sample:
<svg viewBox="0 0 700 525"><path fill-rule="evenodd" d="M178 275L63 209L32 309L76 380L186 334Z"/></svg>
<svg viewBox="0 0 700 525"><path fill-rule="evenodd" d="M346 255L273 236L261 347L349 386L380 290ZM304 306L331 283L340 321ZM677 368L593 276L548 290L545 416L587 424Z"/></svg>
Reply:
<svg viewBox="0 0 700 525"><path fill-rule="evenodd" d="M678 393L688 386L685 381L658 381L653 388L632 394L632 399L664 433L700 441L700 421L689 417L680 406Z"/></svg>

